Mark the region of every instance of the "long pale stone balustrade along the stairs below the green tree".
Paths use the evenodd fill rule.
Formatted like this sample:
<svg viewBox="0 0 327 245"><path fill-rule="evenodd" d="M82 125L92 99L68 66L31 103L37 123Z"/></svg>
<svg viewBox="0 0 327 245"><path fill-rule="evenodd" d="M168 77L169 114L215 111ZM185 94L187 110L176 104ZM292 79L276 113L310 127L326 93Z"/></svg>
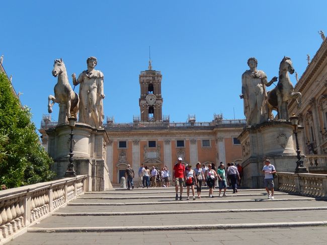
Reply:
<svg viewBox="0 0 327 245"><path fill-rule="evenodd" d="M89 191L87 181L87 176L77 176L0 191L0 244Z"/></svg>

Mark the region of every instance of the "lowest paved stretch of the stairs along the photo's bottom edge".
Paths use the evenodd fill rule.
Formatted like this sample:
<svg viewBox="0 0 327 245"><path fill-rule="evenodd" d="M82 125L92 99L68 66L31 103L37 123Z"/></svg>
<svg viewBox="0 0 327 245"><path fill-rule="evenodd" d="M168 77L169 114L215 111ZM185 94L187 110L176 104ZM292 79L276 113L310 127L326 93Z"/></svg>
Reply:
<svg viewBox="0 0 327 245"><path fill-rule="evenodd" d="M108 244L326 244L326 227L165 230L139 232L25 233L8 245Z"/></svg>

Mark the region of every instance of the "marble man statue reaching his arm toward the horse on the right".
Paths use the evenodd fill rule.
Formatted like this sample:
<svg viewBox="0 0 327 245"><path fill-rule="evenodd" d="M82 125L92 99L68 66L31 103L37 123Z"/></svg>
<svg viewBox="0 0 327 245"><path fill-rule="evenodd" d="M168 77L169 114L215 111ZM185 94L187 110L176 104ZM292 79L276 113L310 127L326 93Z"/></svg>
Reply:
<svg viewBox="0 0 327 245"><path fill-rule="evenodd" d="M273 77L267 81L267 75L262 70L257 70L258 61L256 58L248 60L250 70L242 74L242 94L244 99L244 115L247 118L247 125L256 125L268 121L267 92L266 86L270 86L277 81Z"/></svg>

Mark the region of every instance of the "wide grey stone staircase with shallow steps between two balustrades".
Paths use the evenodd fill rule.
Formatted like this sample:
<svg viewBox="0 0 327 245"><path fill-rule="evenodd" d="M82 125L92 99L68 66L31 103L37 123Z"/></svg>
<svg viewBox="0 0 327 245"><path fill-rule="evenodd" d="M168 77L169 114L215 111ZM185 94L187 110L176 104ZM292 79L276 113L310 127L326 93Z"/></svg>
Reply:
<svg viewBox="0 0 327 245"><path fill-rule="evenodd" d="M175 200L174 188L89 192L7 244L326 244L324 198L241 189ZM192 198L191 198L192 199ZM201 243L202 244L202 243ZM242 244L243 245L243 244Z"/></svg>

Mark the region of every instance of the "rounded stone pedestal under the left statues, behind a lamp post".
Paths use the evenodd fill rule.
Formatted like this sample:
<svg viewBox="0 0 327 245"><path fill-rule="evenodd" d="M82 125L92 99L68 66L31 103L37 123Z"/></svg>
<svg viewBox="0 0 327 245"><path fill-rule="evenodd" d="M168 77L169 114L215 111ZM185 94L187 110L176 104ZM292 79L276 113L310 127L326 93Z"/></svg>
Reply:
<svg viewBox="0 0 327 245"><path fill-rule="evenodd" d="M48 153L54 159L51 169L56 172L56 179L64 177L67 170L71 129L68 124L61 124L48 129ZM106 130L93 128L85 123L76 123L73 128L73 164L76 175L88 175L89 187L93 191L112 188L107 165Z"/></svg>

